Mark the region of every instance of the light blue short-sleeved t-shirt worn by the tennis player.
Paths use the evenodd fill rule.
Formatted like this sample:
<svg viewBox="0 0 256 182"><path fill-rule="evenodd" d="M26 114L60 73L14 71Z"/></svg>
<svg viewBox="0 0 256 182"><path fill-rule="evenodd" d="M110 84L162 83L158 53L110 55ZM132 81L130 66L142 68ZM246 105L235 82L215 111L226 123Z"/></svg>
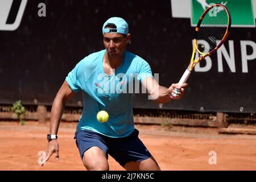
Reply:
<svg viewBox="0 0 256 182"><path fill-rule="evenodd" d="M126 51L113 75L103 69L105 49L82 59L68 74L66 81L74 92L82 90L84 109L77 131L92 130L113 138L130 135L134 130L133 95L137 82L152 77L150 65ZM108 122L97 120L98 111L109 114Z"/></svg>

